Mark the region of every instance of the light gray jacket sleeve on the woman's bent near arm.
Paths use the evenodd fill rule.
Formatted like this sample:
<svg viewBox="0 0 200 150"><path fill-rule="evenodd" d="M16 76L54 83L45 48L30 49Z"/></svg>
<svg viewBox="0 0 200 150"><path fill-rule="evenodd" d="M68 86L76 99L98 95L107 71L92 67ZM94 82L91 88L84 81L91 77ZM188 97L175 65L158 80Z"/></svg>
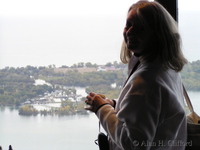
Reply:
<svg viewBox="0 0 200 150"><path fill-rule="evenodd" d="M109 137L121 149L148 149L147 144L154 139L159 122L160 91L159 88L152 90L153 86L140 76L129 84L130 89L119 104L119 112L105 105L96 115Z"/></svg>

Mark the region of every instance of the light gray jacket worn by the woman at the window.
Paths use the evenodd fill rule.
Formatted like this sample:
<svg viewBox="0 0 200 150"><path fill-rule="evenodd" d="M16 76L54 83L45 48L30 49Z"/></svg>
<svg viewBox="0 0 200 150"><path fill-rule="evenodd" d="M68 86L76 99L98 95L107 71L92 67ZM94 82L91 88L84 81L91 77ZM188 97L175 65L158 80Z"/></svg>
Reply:
<svg viewBox="0 0 200 150"><path fill-rule="evenodd" d="M133 57L131 69L136 62ZM110 150L184 150L181 78L174 70L161 68L157 60L141 63L124 85L116 107L104 105L96 115L108 133Z"/></svg>

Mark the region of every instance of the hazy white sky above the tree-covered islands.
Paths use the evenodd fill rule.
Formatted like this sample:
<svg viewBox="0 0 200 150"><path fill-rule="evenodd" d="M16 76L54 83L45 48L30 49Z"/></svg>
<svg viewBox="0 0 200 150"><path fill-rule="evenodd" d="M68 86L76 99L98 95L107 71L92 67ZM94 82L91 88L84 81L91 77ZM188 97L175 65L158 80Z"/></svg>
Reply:
<svg viewBox="0 0 200 150"><path fill-rule="evenodd" d="M136 1L0 1L0 69L119 62L126 13ZM183 52L199 60L200 1L178 3Z"/></svg>

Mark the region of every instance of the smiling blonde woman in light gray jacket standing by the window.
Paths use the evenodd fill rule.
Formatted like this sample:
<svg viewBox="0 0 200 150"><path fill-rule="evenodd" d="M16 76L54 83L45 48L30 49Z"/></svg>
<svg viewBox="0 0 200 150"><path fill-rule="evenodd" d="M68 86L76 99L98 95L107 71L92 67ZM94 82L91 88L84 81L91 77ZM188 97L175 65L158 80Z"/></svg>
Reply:
<svg viewBox="0 0 200 150"><path fill-rule="evenodd" d="M90 93L86 109L99 118L110 150L183 150L186 117L178 72L187 60L176 22L160 4L139 1L128 11L123 35L121 60L129 76L119 98Z"/></svg>

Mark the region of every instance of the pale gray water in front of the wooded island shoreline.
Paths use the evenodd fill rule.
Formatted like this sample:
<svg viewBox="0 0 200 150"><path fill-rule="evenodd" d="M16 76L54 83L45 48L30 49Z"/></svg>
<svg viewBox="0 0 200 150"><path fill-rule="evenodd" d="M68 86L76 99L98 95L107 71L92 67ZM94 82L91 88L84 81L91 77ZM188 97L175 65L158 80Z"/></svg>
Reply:
<svg viewBox="0 0 200 150"><path fill-rule="evenodd" d="M188 92L200 114L200 92ZM20 116L18 110L0 108L0 146L3 150L98 150L94 140L98 120L93 113L74 116Z"/></svg>

